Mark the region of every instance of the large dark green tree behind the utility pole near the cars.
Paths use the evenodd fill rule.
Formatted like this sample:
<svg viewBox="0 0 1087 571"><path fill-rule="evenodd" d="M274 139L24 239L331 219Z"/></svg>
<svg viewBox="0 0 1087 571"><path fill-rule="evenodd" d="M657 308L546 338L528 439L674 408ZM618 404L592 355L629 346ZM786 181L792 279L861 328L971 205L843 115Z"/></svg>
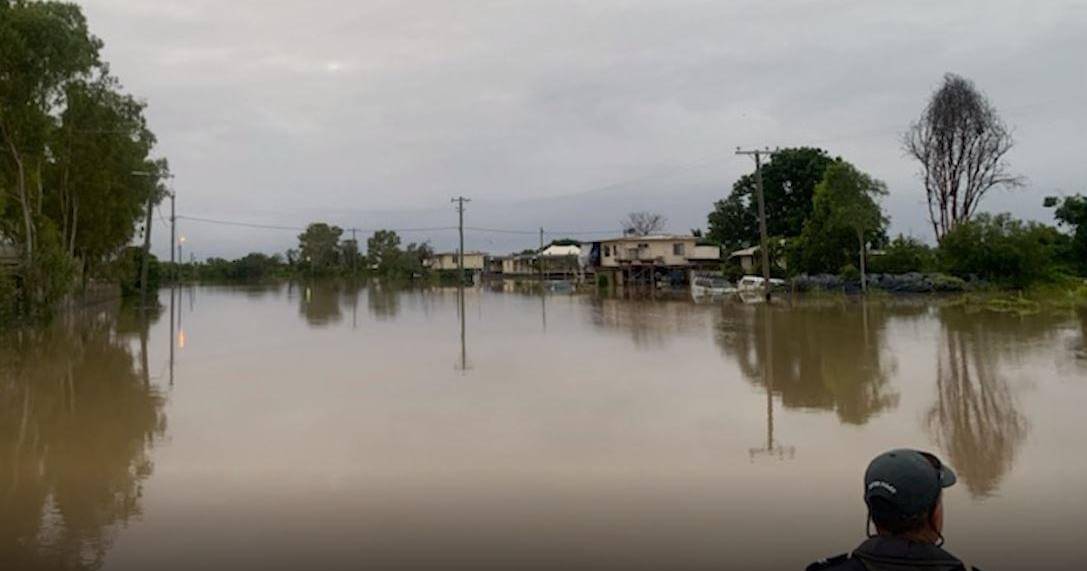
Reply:
<svg viewBox="0 0 1087 571"><path fill-rule="evenodd" d="M833 161L822 149L810 147L773 153L770 162L762 166L767 235L800 235L812 214L815 185L823 179L823 173ZM746 248L759 241L753 173L736 181L732 193L714 204L709 215L707 236L728 250Z"/></svg>

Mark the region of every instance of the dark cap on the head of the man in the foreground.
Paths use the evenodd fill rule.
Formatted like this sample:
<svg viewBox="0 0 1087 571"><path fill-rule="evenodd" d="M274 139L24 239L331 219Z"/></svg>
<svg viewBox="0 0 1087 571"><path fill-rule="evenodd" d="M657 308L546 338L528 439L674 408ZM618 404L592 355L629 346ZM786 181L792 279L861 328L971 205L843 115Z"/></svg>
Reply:
<svg viewBox="0 0 1087 571"><path fill-rule="evenodd" d="M953 485L954 472L939 458L900 448L877 456L864 472L864 504L892 508L898 516L919 516L936 505L940 491ZM885 509L885 508L884 508Z"/></svg>

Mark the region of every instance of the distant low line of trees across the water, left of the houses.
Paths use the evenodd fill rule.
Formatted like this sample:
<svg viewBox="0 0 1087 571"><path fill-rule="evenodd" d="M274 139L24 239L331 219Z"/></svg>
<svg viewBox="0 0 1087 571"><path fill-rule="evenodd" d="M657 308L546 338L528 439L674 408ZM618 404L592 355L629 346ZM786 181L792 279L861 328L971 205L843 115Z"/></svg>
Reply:
<svg viewBox="0 0 1087 571"><path fill-rule="evenodd" d="M323 222L307 226L298 247L286 256L249 253L236 260L209 258L200 263L162 264L164 273L179 280L243 282L275 277L382 277L421 280L430 272L424 261L434 255L429 244L401 247L392 231L377 231L366 240L366 252L355 240L343 238L343 229Z"/></svg>

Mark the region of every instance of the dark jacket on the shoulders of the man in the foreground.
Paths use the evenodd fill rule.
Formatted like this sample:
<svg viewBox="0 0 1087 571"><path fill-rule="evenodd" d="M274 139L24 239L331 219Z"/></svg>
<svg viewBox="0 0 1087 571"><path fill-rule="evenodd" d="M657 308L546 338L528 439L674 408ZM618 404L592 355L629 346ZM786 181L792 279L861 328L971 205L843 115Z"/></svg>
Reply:
<svg viewBox="0 0 1087 571"><path fill-rule="evenodd" d="M955 556L927 543L898 537L872 537L851 554L816 561L808 571L965 571ZM977 571L974 569L974 571Z"/></svg>

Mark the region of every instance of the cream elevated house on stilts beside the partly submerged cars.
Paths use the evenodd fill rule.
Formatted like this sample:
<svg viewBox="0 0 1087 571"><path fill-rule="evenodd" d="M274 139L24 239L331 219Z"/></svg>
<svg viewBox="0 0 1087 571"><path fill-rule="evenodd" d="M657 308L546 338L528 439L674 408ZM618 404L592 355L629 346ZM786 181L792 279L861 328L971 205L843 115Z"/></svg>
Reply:
<svg viewBox="0 0 1087 571"><path fill-rule="evenodd" d="M694 272L719 270L721 248L697 236L623 236L594 244L590 259L613 285L680 284Z"/></svg>

